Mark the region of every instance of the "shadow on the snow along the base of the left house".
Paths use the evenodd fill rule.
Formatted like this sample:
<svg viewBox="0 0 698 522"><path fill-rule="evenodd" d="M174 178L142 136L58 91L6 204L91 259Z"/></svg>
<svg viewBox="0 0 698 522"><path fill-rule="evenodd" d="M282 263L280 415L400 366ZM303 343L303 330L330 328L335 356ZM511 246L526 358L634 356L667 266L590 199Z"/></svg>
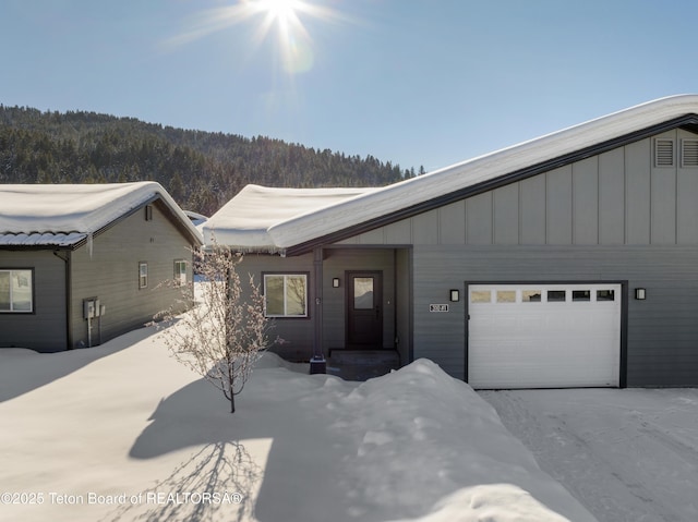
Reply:
<svg viewBox="0 0 698 522"><path fill-rule="evenodd" d="M0 402L9 401L58 380L95 361L112 355L157 333L155 328L139 328L104 344L55 353L0 349Z"/></svg>

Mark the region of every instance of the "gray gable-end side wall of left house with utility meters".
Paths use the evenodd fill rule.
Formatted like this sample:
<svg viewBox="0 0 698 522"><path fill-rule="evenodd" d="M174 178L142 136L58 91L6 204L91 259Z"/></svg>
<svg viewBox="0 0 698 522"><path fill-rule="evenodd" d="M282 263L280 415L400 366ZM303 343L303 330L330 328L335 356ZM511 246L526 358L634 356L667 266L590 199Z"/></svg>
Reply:
<svg viewBox="0 0 698 522"><path fill-rule="evenodd" d="M192 278L191 246L161 210L153 204L153 219L144 208L118 221L72 253L73 348L88 345L83 300L98 298L106 314L93 320L92 344L105 342L153 320L153 316L177 303L181 292L160 286L174 277L174 260L188 262ZM146 288L139 288L139 263L148 265ZM100 324L99 324L100 323ZM99 339L99 328L101 339Z"/></svg>

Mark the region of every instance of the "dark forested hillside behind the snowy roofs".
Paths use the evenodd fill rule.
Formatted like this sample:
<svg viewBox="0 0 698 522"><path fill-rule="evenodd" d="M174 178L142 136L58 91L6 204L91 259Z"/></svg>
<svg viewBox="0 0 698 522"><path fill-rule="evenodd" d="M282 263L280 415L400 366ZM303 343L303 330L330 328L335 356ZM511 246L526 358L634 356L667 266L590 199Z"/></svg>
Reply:
<svg viewBox="0 0 698 522"><path fill-rule="evenodd" d="M209 216L248 183L381 186L412 175L414 169L401 171L372 156L346 156L263 136L0 105L0 183L153 180L182 208Z"/></svg>

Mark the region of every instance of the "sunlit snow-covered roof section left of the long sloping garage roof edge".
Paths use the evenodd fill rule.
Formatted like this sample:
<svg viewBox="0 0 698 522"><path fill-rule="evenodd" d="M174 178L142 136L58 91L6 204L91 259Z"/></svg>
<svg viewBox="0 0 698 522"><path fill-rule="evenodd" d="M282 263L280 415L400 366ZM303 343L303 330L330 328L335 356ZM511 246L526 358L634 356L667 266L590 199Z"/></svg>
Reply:
<svg viewBox="0 0 698 522"><path fill-rule="evenodd" d="M206 244L276 252L269 230L378 189L272 189L246 185L201 226Z"/></svg>

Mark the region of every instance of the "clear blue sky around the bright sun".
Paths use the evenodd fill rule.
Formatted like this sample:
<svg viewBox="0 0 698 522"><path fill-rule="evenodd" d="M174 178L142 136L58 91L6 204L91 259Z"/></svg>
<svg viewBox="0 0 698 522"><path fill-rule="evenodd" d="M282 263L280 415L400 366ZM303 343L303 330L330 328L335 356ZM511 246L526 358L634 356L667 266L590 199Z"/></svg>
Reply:
<svg viewBox="0 0 698 522"><path fill-rule="evenodd" d="M698 93L693 0L304 3L285 34L254 0L0 0L0 102L432 170Z"/></svg>

